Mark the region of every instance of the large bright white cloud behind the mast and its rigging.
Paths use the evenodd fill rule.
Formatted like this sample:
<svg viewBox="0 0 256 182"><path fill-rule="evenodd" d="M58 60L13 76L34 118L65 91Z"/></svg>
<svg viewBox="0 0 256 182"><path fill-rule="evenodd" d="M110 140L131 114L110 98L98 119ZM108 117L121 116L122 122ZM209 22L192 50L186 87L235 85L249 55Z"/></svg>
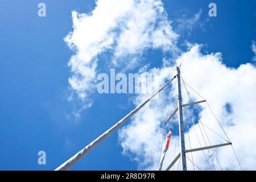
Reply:
<svg viewBox="0 0 256 182"><path fill-rule="evenodd" d="M242 168L255 169L256 113L254 110L256 106L256 85L254 83L256 82L256 68L254 65L247 63L240 65L237 69L228 68L222 64L220 53L203 55L200 52L200 46L197 44L188 52L183 53L177 60L177 63L181 61L181 71L183 72L184 80L208 100L230 140L233 142ZM157 69L162 77L162 82L164 82L164 78L171 78L174 75L173 69L171 67ZM190 94L195 100L201 99L192 91ZM188 102L185 96L184 92L183 101ZM144 97L138 96L135 98L134 104L138 105L144 100ZM160 94L158 100L151 101L149 105L131 119L129 125L119 130L119 139L124 154L128 154L131 159L136 160L139 163L139 168L157 168L162 139L160 123L166 119L167 98L169 97L170 89ZM231 111L225 109L226 104L229 104ZM175 106L175 104L172 104L172 106ZM200 106L202 109L199 114L201 122L224 136L207 105L201 104ZM189 114L191 110L187 110L187 112ZM186 114L184 112L184 115ZM192 148L200 147L194 130L196 130L197 135L200 135L198 124L193 125L189 129ZM205 130L207 130L212 144L225 142L208 129ZM187 134L185 134L185 139L188 144ZM171 139L170 150L164 163L165 167L174 158L175 140L177 140L176 137ZM200 140L202 146L204 146L203 137ZM187 148L189 148L188 145ZM223 169L239 169L230 146L218 148L216 152ZM208 156L207 151L205 151L205 154ZM201 169L212 169L210 168L212 166L209 165L209 159L205 159L201 152L195 152L193 160ZM192 169L189 160L187 160L187 163L189 169ZM220 169L218 164L216 164L216 168Z"/></svg>

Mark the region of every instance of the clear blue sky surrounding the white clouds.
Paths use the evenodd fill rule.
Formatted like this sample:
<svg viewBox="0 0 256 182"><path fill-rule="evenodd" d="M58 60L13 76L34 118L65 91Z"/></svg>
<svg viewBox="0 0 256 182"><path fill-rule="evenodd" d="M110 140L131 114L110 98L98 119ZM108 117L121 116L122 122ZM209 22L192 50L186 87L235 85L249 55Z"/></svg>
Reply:
<svg viewBox="0 0 256 182"><path fill-rule="evenodd" d="M40 2L46 3L46 17L38 16ZM190 18L201 10L191 30L180 33L178 46L185 51L185 41L204 44L203 52L221 52L228 67L252 63L256 2L214 1L217 17L213 18L208 16L210 2L163 1L178 33L177 19ZM73 30L71 11L89 13L94 7L94 1L0 2L0 169L55 169L134 108L128 94L94 93L92 107L83 110L79 119L72 115L82 102L67 99L71 93L68 61L73 52L63 39ZM159 67L166 55L148 49L143 64ZM99 59L109 56L106 52ZM99 67L105 69L101 63ZM46 165L38 165L40 150L46 151ZM137 168L137 162L122 155L114 133L73 169Z"/></svg>

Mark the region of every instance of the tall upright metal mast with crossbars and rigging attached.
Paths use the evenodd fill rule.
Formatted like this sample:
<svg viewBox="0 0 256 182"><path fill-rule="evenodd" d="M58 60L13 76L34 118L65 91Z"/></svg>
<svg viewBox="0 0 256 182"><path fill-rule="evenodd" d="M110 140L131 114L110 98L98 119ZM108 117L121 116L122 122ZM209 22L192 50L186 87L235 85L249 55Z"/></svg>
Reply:
<svg viewBox="0 0 256 182"><path fill-rule="evenodd" d="M180 68L177 69L177 101L178 101L178 115L179 115L179 133L180 133L180 158L181 158L181 170L187 171L187 162L185 154L185 140L184 140L184 126L183 126L183 110L182 110L182 96L181 96L181 84L180 84Z"/></svg>

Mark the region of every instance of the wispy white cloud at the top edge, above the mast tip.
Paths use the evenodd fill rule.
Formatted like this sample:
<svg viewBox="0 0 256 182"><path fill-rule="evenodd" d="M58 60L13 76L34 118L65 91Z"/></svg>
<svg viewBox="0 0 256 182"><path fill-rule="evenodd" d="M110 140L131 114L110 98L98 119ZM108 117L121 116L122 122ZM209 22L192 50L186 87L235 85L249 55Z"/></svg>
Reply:
<svg viewBox="0 0 256 182"><path fill-rule="evenodd" d="M140 55L144 49L175 47L177 35L159 0L98 0L91 13L73 11L72 18L73 31L64 39L75 51L68 64L69 84L82 100L95 88L97 56L102 52L113 52L117 66L122 64L120 57ZM131 60L137 64L135 57Z"/></svg>

